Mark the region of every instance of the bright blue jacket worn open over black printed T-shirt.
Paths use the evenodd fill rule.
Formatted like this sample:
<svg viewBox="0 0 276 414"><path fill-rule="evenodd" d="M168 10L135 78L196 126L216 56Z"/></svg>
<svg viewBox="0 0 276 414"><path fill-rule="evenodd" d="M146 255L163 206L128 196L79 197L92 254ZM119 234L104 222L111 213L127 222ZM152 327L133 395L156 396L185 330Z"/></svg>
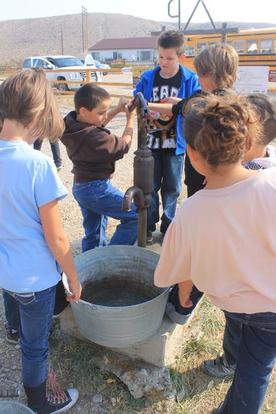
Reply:
<svg viewBox="0 0 276 414"><path fill-rule="evenodd" d="M179 66L182 72L182 79L178 97L186 98L190 95L193 95L196 90L199 90L200 85L197 81L197 75L195 72L184 68L182 65ZM141 81L137 83L136 89L133 92L133 96L135 96L137 92L142 92L147 101L150 102L155 73L159 69L160 66L157 66L156 68L147 70L143 73L141 76ZM177 148L175 150L176 155L183 154L186 151L186 141L183 134L183 121L184 118L181 115L177 115Z"/></svg>

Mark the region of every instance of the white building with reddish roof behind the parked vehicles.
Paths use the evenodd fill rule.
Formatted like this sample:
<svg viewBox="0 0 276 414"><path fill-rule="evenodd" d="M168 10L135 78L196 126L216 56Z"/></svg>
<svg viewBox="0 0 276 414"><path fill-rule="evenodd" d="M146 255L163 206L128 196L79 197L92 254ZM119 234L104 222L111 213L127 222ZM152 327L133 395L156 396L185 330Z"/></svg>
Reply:
<svg viewBox="0 0 276 414"><path fill-rule="evenodd" d="M156 37L130 37L103 39L91 46L92 57L98 61L126 59L126 61L152 61L157 57Z"/></svg>

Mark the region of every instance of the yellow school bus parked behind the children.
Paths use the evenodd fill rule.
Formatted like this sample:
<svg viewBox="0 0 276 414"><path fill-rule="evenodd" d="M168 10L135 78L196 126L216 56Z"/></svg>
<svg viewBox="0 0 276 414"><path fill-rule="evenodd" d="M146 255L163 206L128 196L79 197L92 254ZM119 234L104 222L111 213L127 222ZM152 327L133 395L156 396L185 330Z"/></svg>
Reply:
<svg viewBox="0 0 276 414"><path fill-rule="evenodd" d="M220 34L186 36L184 66L195 70L194 58L206 46L220 43ZM276 92L276 28L241 30L227 34L226 43L239 54L239 66L269 66L268 90ZM182 63L182 62L181 62Z"/></svg>

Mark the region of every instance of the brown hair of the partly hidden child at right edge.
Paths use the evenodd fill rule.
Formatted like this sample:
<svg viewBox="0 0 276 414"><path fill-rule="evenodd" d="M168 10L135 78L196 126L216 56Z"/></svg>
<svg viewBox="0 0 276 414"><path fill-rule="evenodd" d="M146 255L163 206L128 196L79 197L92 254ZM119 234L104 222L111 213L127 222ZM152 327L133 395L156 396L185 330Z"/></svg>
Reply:
<svg viewBox="0 0 276 414"><path fill-rule="evenodd" d="M264 93L247 95L253 110L259 115L262 133L256 144L267 146L276 138L276 100Z"/></svg>

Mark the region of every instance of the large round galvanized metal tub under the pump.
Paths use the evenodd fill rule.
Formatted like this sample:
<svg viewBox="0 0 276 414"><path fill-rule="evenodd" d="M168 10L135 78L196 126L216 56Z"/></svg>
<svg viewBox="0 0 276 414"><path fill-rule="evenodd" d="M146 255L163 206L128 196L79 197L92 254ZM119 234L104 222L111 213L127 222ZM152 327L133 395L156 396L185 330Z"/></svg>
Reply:
<svg viewBox="0 0 276 414"><path fill-rule="evenodd" d="M152 250L136 246L106 246L75 257L83 293L71 305L81 333L112 348L154 335L169 292L153 284L158 259ZM63 284L68 290L66 276Z"/></svg>

